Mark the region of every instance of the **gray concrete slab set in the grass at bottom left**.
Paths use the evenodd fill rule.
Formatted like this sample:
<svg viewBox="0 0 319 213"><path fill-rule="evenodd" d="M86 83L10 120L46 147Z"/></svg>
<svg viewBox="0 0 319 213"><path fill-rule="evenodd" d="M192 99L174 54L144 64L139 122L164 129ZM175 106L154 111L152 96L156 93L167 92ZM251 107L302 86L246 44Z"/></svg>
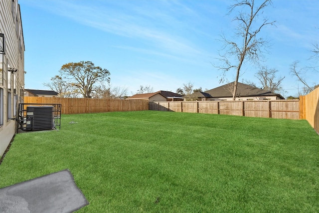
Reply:
<svg viewBox="0 0 319 213"><path fill-rule="evenodd" d="M88 204L69 170L0 189L0 213L72 213Z"/></svg>

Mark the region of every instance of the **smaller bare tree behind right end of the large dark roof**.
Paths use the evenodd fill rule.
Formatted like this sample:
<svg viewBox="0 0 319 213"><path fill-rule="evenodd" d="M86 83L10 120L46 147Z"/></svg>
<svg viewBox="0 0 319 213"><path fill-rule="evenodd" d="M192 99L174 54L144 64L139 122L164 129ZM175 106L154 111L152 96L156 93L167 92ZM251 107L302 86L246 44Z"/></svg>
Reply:
<svg viewBox="0 0 319 213"><path fill-rule="evenodd" d="M268 69L267 66L263 66L256 74L255 77L258 79L262 89L271 91L271 92L280 92L283 90L283 87L280 85L284 80L285 76L277 77L276 74L278 70L275 68ZM256 84L251 84L256 87Z"/></svg>

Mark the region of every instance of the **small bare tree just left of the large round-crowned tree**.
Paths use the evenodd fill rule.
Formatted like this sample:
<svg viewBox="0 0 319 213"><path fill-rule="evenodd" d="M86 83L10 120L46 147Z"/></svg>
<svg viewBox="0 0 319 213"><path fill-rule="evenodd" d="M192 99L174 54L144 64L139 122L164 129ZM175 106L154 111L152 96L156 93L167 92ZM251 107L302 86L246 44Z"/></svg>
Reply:
<svg viewBox="0 0 319 213"><path fill-rule="evenodd" d="M51 78L51 82L43 83L44 86L58 93L58 97L76 98L80 95L80 91L70 83L63 80L59 75Z"/></svg>

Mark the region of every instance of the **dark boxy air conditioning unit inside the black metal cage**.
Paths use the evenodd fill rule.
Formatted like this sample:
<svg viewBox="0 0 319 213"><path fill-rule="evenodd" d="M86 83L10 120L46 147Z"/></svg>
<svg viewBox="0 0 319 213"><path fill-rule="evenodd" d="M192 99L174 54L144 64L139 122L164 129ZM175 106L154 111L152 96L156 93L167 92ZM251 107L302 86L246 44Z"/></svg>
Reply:
<svg viewBox="0 0 319 213"><path fill-rule="evenodd" d="M28 106L26 107L26 130L54 129L53 106Z"/></svg>

